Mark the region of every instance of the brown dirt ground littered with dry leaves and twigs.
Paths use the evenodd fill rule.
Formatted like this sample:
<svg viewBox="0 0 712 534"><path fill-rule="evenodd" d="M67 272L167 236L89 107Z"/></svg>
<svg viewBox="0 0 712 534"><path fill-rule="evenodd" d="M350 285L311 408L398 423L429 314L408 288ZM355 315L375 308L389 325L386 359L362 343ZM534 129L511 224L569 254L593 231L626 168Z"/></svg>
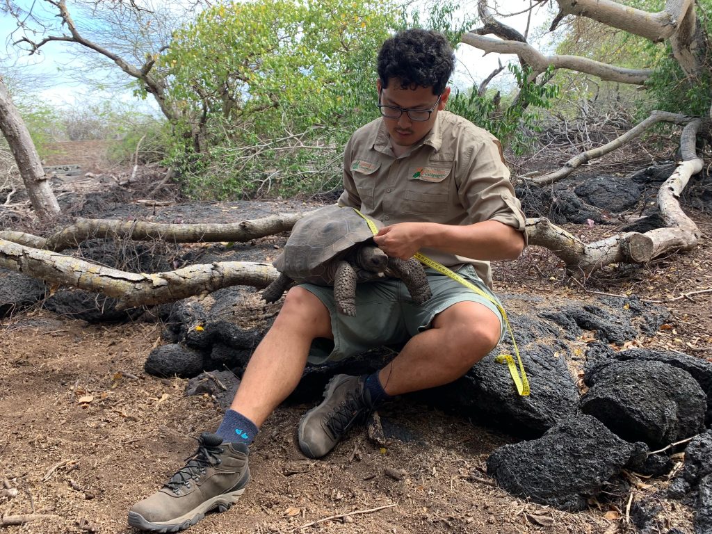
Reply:
<svg viewBox="0 0 712 534"><path fill-rule="evenodd" d="M689 214L703 234L690 253L607 268L581 283L567 281L551 253L530 248L518 261L495 265L495 289L662 300L671 322L629 345L709 360L712 217ZM586 232L585 239L595 240L617 229ZM161 342L160 325L89 325L36 308L3 320L0 333L0 518L36 515L3 530L136 534L126 524L128 508L182 466L193 438L216 429L221 411L210 398L183 397L185 379L144 372L148 353ZM404 439L379 448L357 430L325 459L311 461L295 440L309 407L286 405L268 419L252 448L253 481L242 500L189 532L629 533L636 531L627 518L629 499L666 485L639 483L632 497L592 501L581 513L528 503L485 472L488 455L514 441L511 436L404 399L380 412L384 426L396 426ZM691 532L689 509L671 503L666 513L669 528Z"/></svg>

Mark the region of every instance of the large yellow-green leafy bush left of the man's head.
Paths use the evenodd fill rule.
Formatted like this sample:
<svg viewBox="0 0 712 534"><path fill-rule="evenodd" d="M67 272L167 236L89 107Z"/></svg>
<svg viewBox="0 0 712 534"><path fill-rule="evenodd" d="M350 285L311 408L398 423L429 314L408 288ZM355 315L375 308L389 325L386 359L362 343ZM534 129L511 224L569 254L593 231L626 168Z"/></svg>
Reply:
<svg viewBox="0 0 712 534"><path fill-rule="evenodd" d="M389 0L220 3L157 58L183 118L168 161L194 197L291 195L340 180L335 152L377 117ZM325 178L328 177L328 179Z"/></svg>

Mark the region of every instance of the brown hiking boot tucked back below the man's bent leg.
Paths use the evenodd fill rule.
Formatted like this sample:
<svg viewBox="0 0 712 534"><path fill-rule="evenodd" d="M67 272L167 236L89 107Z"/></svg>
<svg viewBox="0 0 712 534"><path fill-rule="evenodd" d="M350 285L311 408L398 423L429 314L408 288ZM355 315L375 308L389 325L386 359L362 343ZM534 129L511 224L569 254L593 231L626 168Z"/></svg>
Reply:
<svg viewBox="0 0 712 534"><path fill-rule="evenodd" d="M299 447L305 456L325 456L352 425L366 421L374 407L364 387L365 379L365 375L336 375L331 379L324 401L310 409L299 423Z"/></svg>

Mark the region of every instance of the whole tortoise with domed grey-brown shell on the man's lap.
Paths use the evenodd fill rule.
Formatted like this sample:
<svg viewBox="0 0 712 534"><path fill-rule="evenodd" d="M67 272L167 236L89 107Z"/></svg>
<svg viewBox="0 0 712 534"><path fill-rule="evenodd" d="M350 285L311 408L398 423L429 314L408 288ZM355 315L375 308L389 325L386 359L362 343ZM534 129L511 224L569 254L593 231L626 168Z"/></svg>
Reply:
<svg viewBox="0 0 712 534"><path fill-rule="evenodd" d="M416 304L432 296L423 266L414 258L389 258L351 208L326 206L299 219L273 265L280 276L263 291L267 302L276 302L292 283L334 286L339 313L355 317L356 284L384 276L401 278Z"/></svg>

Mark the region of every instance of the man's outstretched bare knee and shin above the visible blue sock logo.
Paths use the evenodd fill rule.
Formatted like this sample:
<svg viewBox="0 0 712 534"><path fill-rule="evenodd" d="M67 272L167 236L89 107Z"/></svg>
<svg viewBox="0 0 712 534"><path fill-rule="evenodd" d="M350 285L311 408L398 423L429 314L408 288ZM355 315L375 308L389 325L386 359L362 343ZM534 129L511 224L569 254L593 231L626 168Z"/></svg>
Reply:
<svg viewBox="0 0 712 534"><path fill-rule="evenodd" d="M261 426L297 387L316 337L333 338L328 309L308 290L290 289L248 362L231 409Z"/></svg>

